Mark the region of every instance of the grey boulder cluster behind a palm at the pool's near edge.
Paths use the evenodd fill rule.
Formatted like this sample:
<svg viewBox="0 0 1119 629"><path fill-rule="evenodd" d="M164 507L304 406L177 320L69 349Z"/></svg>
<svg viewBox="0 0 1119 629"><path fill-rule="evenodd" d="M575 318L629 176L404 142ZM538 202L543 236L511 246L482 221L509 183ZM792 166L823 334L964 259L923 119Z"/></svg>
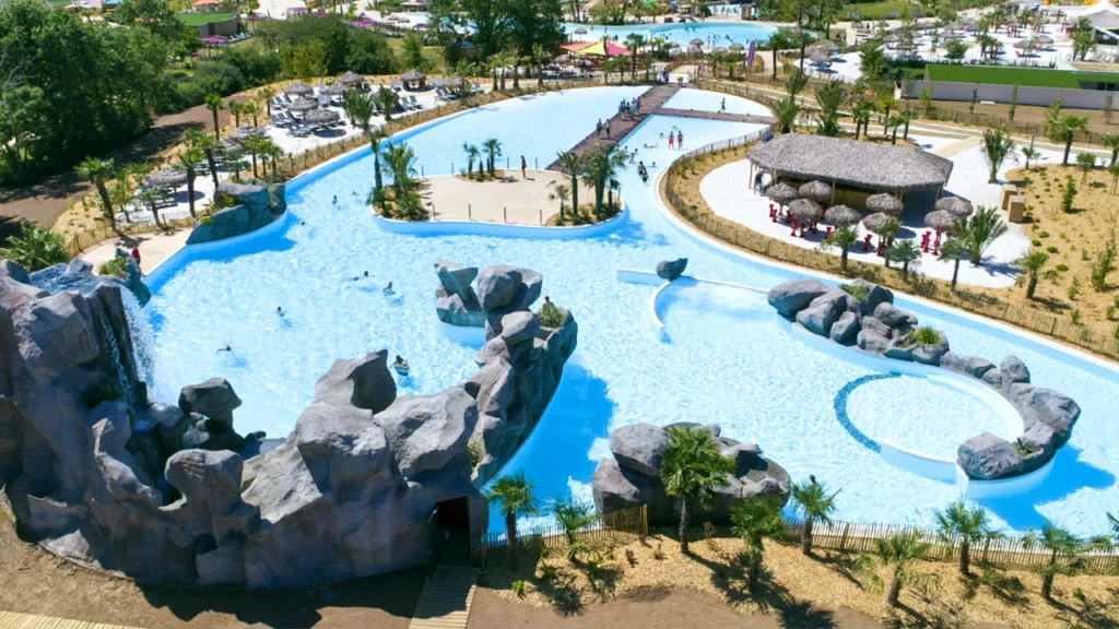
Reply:
<svg viewBox="0 0 1119 629"><path fill-rule="evenodd" d="M650 522L675 522L679 518L679 503L665 491L660 469L668 447L667 429L695 428L700 424L679 422L665 428L652 424L631 424L610 433L612 458L599 461L591 481L594 506L601 514L648 506ZM743 498L773 495L783 505L789 499L789 473L779 464L762 457L753 443L740 443L721 436L717 425L705 424L712 432L724 457L734 459L734 475L727 475L727 486L715 489L715 503L699 510L693 520L722 522L730 517L731 507Z"/></svg>

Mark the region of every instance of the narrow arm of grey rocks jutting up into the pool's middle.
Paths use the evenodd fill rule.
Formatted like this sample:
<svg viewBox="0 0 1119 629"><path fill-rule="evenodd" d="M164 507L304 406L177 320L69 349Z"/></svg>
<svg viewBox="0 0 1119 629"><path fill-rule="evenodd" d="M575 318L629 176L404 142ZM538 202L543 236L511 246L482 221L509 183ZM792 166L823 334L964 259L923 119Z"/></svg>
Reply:
<svg viewBox="0 0 1119 629"><path fill-rule="evenodd" d="M467 381L477 388L478 424L470 439L474 482L489 480L528 436L560 386L563 367L575 351L579 326L566 308L548 328L528 308L540 297L544 278L507 264L479 272L440 261L435 311L440 320L486 328L486 345ZM470 282L478 279L478 290ZM547 299L547 298L545 298Z"/></svg>

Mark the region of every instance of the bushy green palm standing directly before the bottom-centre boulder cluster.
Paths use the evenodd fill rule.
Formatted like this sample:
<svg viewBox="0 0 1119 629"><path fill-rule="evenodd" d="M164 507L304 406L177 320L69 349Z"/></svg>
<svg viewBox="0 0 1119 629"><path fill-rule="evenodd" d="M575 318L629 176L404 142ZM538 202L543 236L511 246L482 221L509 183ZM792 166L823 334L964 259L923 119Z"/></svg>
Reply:
<svg viewBox="0 0 1119 629"><path fill-rule="evenodd" d="M730 485L734 460L718 452L711 431L704 428L668 428L660 480L669 496L680 500L680 552L688 552L688 517L694 507L706 507L716 487Z"/></svg>

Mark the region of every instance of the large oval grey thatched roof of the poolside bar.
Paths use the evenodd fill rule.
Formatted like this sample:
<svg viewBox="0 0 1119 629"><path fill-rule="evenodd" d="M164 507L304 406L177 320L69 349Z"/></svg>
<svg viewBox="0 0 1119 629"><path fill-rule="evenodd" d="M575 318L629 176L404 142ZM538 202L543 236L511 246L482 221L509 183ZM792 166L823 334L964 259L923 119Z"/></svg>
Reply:
<svg viewBox="0 0 1119 629"><path fill-rule="evenodd" d="M914 147L805 133L778 135L754 145L749 157L777 177L890 193L942 188L952 173L951 161Z"/></svg>

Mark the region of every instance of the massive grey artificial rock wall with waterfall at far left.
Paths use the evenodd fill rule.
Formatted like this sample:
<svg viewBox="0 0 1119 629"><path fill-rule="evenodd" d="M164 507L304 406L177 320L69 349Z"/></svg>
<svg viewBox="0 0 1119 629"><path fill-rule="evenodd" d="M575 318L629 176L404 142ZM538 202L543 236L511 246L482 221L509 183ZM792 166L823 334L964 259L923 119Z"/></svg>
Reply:
<svg viewBox="0 0 1119 629"><path fill-rule="evenodd" d="M338 360L288 439L246 461L262 434L233 430L228 382L149 402L119 283L29 279L0 265L0 481L46 548L143 581L269 588L426 561L441 500L486 531L477 384L397 397L386 351Z"/></svg>

